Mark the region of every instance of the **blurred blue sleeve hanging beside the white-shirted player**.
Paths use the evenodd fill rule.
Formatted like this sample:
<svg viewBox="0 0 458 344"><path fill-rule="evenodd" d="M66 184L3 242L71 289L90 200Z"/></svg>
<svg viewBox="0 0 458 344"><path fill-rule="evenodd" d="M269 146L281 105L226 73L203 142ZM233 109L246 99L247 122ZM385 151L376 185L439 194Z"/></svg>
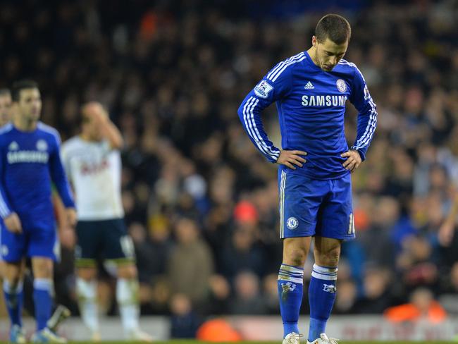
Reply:
<svg viewBox="0 0 458 344"><path fill-rule="evenodd" d="M70 184L68 183L65 171L63 171L60 146L61 138L56 135L54 136L54 147L49 156L49 171L51 173L51 179L56 186L57 192L59 196L61 196L65 207L75 208L75 202L73 201Z"/></svg>

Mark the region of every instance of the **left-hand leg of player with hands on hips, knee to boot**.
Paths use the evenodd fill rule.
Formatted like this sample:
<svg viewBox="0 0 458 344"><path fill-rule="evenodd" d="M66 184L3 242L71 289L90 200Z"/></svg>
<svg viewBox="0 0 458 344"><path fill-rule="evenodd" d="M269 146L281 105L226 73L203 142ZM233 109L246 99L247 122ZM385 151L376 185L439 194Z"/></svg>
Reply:
<svg viewBox="0 0 458 344"><path fill-rule="evenodd" d="M299 309L302 304L304 263L311 237L285 238L283 262L278 271L278 296L283 320L283 344L299 344Z"/></svg>

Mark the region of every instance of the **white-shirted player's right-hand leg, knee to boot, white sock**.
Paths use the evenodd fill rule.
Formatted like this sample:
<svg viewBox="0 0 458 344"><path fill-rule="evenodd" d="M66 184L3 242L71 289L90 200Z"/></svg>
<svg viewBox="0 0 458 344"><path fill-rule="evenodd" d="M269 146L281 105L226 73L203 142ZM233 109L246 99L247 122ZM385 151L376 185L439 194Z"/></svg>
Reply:
<svg viewBox="0 0 458 344"><path fill-rule="evenodd" d="M137 266L132 263L120 264L117 268L116 301L118 302L125 338L151 342L148 333L140 330L140 306L138 302Z"/></svg>

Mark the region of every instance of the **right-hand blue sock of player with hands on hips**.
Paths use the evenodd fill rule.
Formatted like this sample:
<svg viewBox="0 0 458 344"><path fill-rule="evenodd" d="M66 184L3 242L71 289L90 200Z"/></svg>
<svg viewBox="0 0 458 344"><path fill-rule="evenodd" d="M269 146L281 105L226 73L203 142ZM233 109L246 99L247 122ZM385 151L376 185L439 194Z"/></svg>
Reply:
<svg viewBox="0 0 458 344"><path fill-rule="evenodd" d="M309 284L309 342L319 338L320 334L326 331L326 322L335 300L335 281L337 281L337 267L314 264Z"/></svg>

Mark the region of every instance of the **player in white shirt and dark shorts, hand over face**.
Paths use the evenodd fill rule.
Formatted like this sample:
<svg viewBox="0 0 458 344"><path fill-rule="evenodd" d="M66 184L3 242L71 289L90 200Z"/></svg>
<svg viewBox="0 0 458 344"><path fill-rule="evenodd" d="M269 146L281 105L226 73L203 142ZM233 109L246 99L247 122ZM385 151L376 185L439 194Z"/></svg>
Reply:
<svg viewBox="0 0 458 344"><path fill-rule="evenodd" d="M76 288L82 320L99 340L97 260L116 264L116 300L125 337L151 341L139 328L137 268L124 224L119 149L123 138L97 102L82 106L82 132L62 145L62 159L78 206Z"/></svg>

